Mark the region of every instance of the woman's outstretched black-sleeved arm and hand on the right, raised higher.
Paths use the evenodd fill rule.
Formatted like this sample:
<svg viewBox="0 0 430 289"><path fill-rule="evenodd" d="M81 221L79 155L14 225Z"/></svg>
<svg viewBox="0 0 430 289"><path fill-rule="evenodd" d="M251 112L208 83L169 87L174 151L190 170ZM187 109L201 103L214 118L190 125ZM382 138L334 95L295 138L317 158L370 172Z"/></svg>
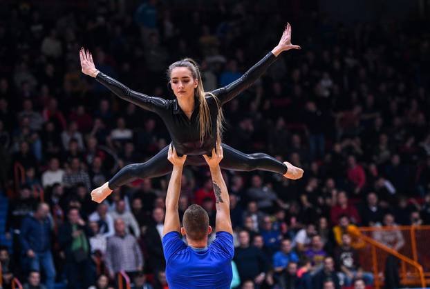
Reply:
<svg viewBox="0 0 430 289"><path fill-rule="evenodd" d="M279 44L273 48L271 52L269 52L263 59L261 59L258 63L256 63L250 70L247 70L245 74L241 76L241 78L233 81L227 86L223 88L218 88L214 90L213 93L218 97L221 101L221 104L226 103L227 101L232 100L238 94L243 92L243 90L252 86L252 84L261 77L261 75L269 68L269 66L274 63L277 59L277 56L281 54L281 52L290 50L290 49L301 49L300 46L291 44L291 26L290 23L287 23L286 29L283 31L281 40Z"/></svg>

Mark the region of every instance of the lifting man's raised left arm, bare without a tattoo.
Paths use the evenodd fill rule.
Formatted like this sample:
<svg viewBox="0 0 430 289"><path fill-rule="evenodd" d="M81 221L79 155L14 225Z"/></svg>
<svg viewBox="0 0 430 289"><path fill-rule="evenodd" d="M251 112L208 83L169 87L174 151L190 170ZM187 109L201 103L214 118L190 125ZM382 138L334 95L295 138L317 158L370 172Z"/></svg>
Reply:
<svg viewBox="0 0 430 289"><path fill-rule="evenodd" d="M174 146L171 145L167 159L174 165L174 168L171 172L169 188L167 188L165 226L162 230L163 236L172 231L180 232L178 199L180 194L180 179L182 178L182 170L187 156L178 157Z"/></svg>

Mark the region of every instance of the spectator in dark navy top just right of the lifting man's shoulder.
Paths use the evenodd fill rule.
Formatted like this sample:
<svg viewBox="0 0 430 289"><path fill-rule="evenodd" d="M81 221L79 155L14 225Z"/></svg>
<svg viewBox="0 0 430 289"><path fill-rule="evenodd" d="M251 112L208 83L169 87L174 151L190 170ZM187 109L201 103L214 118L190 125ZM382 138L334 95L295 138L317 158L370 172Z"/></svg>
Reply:
<svg viewBox="0 0 430 289"><path fill-rule="evenodd" d="M268 270L268 263L261 250L250 246L250 234L239 232L239 247L234 251L234 262L241 280L253 280L256 284L263 283Z"/></svg>

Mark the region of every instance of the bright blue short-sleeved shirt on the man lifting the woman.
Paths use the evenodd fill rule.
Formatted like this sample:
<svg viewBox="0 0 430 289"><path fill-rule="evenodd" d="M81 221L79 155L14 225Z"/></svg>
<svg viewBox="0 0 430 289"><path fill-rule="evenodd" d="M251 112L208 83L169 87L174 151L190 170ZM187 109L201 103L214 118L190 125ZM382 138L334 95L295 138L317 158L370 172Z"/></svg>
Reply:
<svg viewBox="0 0 430 289"><path fill-rule="evenodd" d="M207 248L187 246L179 232L169 232L162 239L167 262L169 288L230 288L232 281L233 237L217 232Z"/></svg>

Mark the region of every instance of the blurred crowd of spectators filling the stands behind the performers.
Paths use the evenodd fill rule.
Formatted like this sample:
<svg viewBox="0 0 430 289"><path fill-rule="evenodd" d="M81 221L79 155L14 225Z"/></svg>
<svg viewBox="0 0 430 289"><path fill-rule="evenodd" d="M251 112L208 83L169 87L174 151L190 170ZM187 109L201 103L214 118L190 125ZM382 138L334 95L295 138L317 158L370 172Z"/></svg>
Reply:
<svg viewBox="0 0 430 289"><path fill-rule="evenodd" d="M42 1L8 4L0 21L0 185L10 199L12 241L0 250L4 288L13 277L24 288L115 288L122 271L133 288L167 288L161 234L168 176L136 180L101 204L89 193L119 168L155 155L169 134L155 114L80 72L82 46L98 70L133 90L173 98L169 63L193 57L205 90L213 90L270 51L286 21L302 50L281 54L227 103L223 141L288 160L305 174L290 181L225 172L234 286L371 286L374 276L357 258L364 246L357 226L430 224L430 42L420 23L344 25L259 1L167 2L78 2L55 17ZM213 225L207 168L185 168L182 183L180 218L198 203ZM374 237L395 250L404 246L398 231Z"/></svg>

